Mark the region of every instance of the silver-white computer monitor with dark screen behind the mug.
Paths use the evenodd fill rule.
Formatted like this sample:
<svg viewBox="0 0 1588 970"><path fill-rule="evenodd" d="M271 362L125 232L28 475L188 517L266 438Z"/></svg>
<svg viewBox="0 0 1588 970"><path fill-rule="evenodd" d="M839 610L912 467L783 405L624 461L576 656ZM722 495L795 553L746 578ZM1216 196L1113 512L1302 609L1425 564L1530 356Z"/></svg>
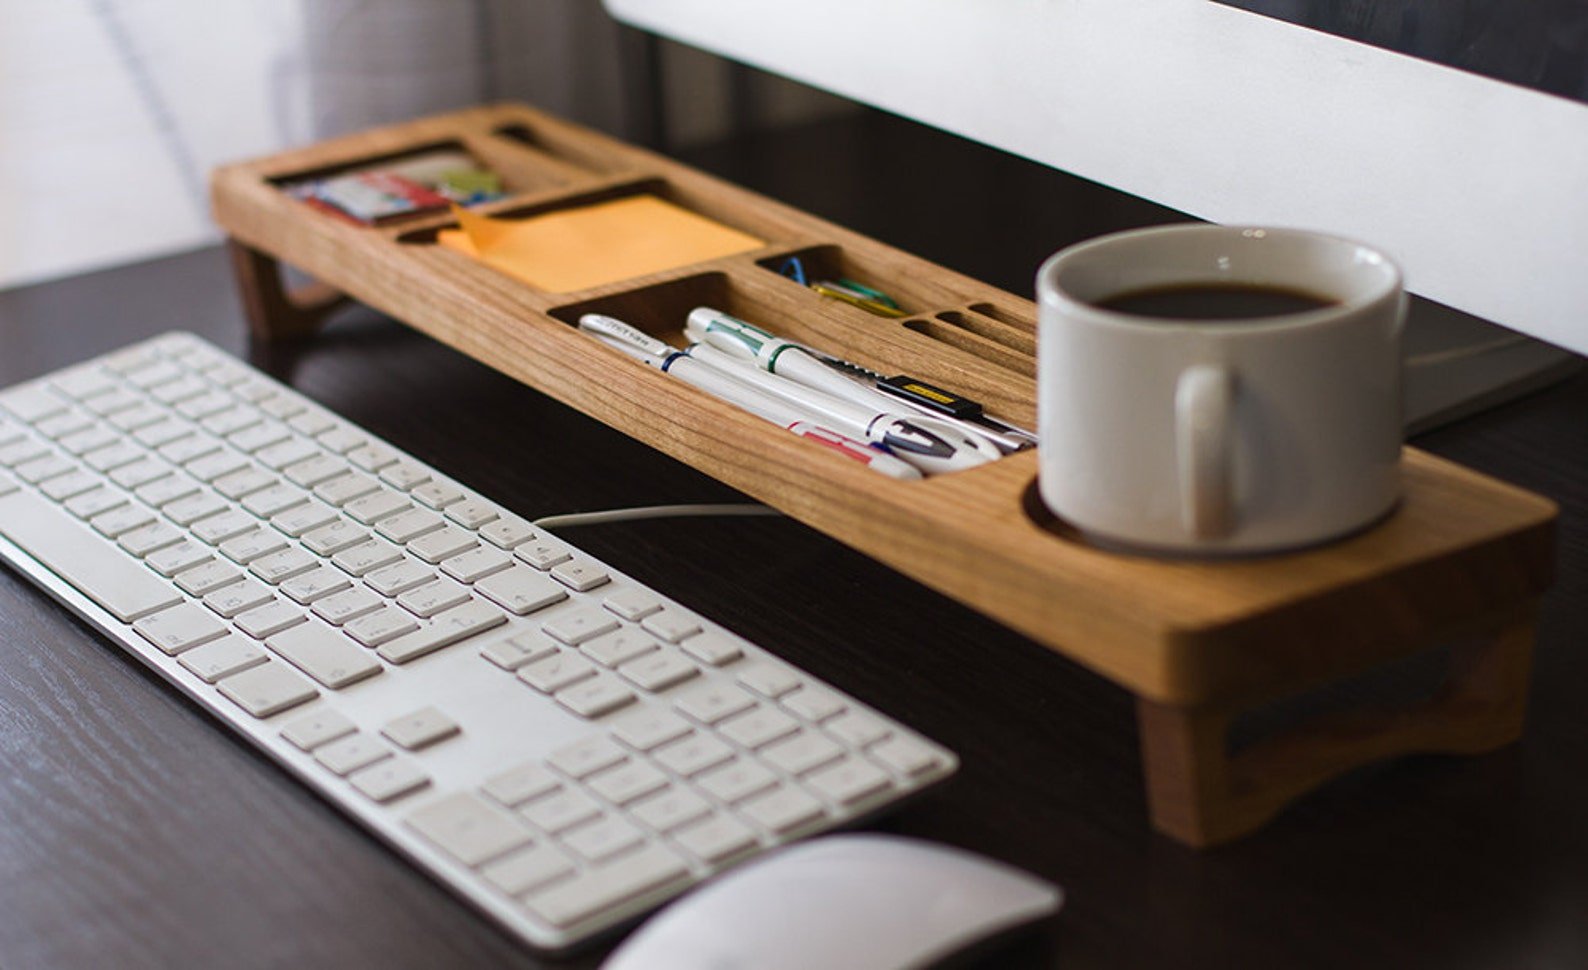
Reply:
<svg viewBox="0 0 1588 970"><path fill-rule="evenodd" d="M1370 241L1413 292L1588 354L1582 3L605 3L1193 216Z"/></svg>

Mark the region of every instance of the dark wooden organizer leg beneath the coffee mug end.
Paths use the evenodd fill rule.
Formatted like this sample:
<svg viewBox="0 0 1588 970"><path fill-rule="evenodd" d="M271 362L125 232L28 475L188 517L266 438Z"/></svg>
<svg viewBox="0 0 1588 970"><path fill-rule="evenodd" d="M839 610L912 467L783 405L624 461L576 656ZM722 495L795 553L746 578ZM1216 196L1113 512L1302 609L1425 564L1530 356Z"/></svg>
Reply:
<svg viewBox="0 0 1588 970"><path fill-rule="evenodd" d="M1137 699L1153 826L1191 846L1231 841L1351 768L1515 741L1528 708L1534 613L1529 605L1491 635L1458 646L1443 684L1423 703L1318 718L1235 754L1229 726L1258 703L1193 710Z"/></svg>

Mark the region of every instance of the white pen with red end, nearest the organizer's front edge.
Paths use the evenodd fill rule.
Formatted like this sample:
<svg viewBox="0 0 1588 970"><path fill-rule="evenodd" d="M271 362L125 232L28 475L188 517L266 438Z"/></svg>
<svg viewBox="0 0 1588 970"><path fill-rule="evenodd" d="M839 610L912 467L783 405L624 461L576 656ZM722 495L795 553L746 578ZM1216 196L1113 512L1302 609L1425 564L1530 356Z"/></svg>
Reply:
<svg viewBox="0 0 1588 970"><path fill-rule="evenodd" d="M726 371L692 360L683 351L675 351L672 346L656 340L649 333L616 318L599 313L586 313L580 318L580 330L584 330L602 343L616 348L643 364L673 375L686 384L699 387L700 391L743 408L757 418L764 418L780 427L784 427L802 438L824 445L845 457L869 465L875 472L881 472L889 478L921 478L921 472L916 470L915 465L899 460L885 451L870 448L864 441L856 441L854 438L821 427L781 398L765 394L764 391L746 384Z"/></svg>

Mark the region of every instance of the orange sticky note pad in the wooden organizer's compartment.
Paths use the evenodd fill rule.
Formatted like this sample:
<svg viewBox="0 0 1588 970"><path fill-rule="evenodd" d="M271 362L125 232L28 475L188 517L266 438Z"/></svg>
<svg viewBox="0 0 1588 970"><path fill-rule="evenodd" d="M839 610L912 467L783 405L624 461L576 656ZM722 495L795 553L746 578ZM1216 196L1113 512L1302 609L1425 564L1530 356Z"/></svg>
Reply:
<svg viewBox="0 0 1588 970"><path fill-rule="evenodd" d="M572 292L757 249L753 235L654 195L495 219L454 210L438 241L535 289Z"/></svg>

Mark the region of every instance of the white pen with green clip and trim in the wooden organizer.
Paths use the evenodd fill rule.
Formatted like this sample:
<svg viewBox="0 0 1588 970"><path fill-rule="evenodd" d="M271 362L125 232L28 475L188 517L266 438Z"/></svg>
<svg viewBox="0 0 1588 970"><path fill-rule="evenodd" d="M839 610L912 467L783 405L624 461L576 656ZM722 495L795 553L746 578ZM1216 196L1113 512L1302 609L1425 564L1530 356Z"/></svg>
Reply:
<svg viewBox="0 0 1588 970"><path fill-rule="evenodd" d="M899 410L900 402L897 398L888 397L880 391L873 391L846 378L813 357L797 343L783 340L751 322L738 319L737 316L729 316L721 310L713 310L710 306L696 306L691 310L689 322L684 325L684 335L697 343L705 343L734 354L735 357L754 360L770 373L789 378L791 381L797 381L807 387L824 391L834 397L854 402L875 413L896 414ZM981 452L981 456L988 460L1002 457L1004 454L996 440L992 440L985 430L972 427L969 422L921 414L916 413L915 408L912 408L910 414L900 414L900 418L926 430L945 435L950 440L958 438L961 441L967 441L970 448ZM1015 448L1010 448L1010 451L1013 449Z"/></svg>

